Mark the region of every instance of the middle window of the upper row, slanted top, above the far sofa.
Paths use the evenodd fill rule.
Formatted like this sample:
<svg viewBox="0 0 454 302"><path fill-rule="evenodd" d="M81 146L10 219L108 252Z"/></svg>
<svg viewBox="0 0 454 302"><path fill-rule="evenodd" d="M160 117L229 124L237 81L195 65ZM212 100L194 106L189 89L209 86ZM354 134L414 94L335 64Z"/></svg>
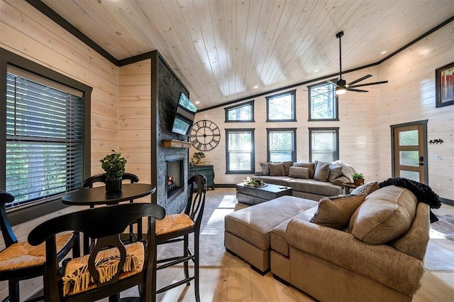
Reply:
<svg viewBox="0 0 454 302"><path fill-rule="evenodd" d="M296 122L296 90L266 97L267 122Z"/></svg>

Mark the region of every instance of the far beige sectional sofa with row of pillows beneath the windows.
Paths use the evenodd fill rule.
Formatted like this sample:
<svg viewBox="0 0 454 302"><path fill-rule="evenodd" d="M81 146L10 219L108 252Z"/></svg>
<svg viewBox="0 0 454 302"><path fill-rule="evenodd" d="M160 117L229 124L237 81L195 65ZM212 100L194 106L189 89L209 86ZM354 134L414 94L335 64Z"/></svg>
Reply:
<svg viewBox="0 0 454 302"><path fill-rule="evenodd" d="M292 195L319 201L326 196L343 193L343 183L351 182L354 169L341 161L314 163L284 161L282 163L260 163L262 171L254 178L265 183L292 187ZM353 173L352 173L353 172Z"/></svg>

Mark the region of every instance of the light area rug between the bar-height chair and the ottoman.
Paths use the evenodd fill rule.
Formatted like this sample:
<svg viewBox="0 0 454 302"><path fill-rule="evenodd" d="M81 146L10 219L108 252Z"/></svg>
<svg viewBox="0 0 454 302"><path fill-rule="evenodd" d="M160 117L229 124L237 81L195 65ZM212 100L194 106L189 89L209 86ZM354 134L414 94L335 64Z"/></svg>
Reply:
<svg viewBox="0 0 454 302"><path fill-rule="evenodd" d="M226 252L224 247L224 216L235 210L236 195L209 191L206 193L204 216L200 232L200 266L248 267L249 264ZM194 236L189 236L189 247L194 246ZM157 259L182 255L182 242L164 244L157 249ZM193 250L193 249L192 249ZM192 265L192 262L189 261Z"/></svg>

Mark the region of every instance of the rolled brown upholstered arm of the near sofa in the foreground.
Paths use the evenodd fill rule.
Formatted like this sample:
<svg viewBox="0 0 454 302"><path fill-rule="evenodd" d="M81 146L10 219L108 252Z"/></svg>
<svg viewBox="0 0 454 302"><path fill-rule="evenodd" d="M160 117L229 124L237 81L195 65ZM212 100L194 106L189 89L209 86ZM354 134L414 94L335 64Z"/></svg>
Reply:
<svg viewBox="0 0 454 302"><path fill-rule="evenodd" d="M289 222L286 237L290 249L312 254L407 296L421 287L423 262L386 244L365 244L348 232L298 219Z"/></svg>

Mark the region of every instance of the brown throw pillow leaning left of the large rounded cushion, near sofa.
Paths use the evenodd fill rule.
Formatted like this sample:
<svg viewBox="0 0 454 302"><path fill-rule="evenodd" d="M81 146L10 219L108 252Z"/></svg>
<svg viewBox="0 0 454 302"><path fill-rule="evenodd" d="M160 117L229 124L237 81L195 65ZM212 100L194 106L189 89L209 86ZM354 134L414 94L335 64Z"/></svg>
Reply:
<svg viewBox="0 0 454 302"><path fill-rule="evenodd" d="M350 217L365 200L366 195L344 195L341 198L322 198L319 209L311 222L333 229L343 230L347 227Z"/></svg>

